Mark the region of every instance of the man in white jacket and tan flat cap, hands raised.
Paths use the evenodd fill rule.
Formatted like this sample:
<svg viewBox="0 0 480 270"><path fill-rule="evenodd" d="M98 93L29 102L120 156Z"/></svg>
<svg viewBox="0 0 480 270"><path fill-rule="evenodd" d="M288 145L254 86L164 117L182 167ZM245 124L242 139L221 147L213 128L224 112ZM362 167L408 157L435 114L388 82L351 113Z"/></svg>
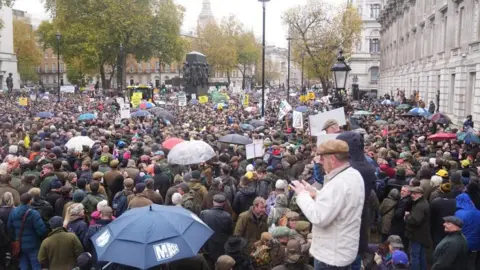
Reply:
<svg viewBox="0 0 480 270"><path fill-rule="evenodd" d="M358 253L365 191L362 176L348 163L348 150L340 140L319 145L327 173L320 191L306 182L292 184L298 206L313 225L310 254L324 267L347 267Z"/></svg>

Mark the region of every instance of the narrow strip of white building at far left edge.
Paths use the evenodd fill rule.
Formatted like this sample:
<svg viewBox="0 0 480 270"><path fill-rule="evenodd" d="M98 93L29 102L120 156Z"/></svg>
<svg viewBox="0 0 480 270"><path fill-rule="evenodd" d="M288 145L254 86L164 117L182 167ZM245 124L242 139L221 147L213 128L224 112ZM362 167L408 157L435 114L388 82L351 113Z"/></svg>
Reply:
<svg viewBox="0 0 480 270"><path fill-rule="evenodd" d="M20 89L20 76L17 72L17 56L13 50L13 12L5 5L0 8L0 90L7 88L5 80L9 73L13 76L13 89Z"/></svg>

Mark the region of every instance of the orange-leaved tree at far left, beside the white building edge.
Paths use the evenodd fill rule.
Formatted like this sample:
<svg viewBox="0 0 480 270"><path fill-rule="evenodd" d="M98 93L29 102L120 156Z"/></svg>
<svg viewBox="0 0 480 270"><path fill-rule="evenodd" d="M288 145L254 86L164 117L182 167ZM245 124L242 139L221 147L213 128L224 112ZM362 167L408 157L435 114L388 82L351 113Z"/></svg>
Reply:
<svg viewBox="0 0 480 270"><path fill-rule="evenodd" d="M37 46L31 25L22 20L13 20L13 49L22 81L37 81L35 68L42 62L42 52Z"/></svg>

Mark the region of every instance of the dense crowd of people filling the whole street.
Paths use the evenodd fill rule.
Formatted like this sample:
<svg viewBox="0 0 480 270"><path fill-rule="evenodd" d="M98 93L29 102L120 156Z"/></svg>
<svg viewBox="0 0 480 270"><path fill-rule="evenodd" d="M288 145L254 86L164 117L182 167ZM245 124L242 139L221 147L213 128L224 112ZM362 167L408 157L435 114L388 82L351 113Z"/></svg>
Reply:
<svg viewBox="0 0 480 270"><path fill-rule="evenodd" d="M347 125L325 121L323 130L338 136L317 145L306 115L305 129L289 127L291 113L278 118L284 95L269 95L257 128L248 123L260 120L259 110L245 110L234 95L220 110L167 102L174 121L120 123L104 99L18 106L6 97L0 269L135 269L98 261L91 237L152 204L183 207L214 231L197 256L158 269L480 269L478 145L432 141L458 130L381 101L348 101ZM310 113L328 108L304 105ZM53 116L37 117L46 111ZM82 112L97 117L79 121ZM227 134L262 139L265 155L247 159L244 145L218 141ZM76 136L95 144L65 147ZM171 164L162 145L171 138L203 140L216 157Z"/></svg>

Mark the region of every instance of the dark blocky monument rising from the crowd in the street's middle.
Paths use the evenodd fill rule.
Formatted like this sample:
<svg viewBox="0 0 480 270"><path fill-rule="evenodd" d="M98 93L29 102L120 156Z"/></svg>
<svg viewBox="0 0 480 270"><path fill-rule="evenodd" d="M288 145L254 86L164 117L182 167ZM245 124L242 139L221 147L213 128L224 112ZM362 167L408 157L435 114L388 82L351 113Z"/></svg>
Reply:
<svg viewBox="0 0 480 270"><path fill-rule="evenodd" d="M208 94L209 65L207 57L199 52L187 54L183 65L183 87L188 95L196 94L197 97Z"/></svg>

